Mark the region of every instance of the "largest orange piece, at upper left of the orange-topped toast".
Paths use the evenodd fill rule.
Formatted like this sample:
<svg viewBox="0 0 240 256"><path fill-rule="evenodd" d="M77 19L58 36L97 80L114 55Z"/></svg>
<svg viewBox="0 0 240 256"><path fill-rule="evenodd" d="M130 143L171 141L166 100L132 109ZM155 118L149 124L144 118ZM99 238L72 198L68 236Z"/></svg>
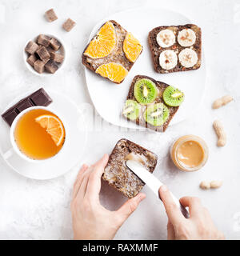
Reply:
<svg viewBox="0 0 240 256"><path fill-rule="evenodd" d="M87 46L84 54L90 58L104 58L116 45L116 34L112 22L106 22Z"/></svg>

